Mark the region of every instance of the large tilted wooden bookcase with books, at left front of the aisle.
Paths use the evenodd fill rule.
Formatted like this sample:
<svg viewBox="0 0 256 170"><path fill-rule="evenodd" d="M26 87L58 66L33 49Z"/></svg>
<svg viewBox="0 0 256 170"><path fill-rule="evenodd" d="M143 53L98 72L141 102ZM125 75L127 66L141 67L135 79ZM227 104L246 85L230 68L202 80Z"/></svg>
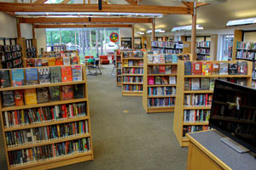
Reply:
<svg viewBox="0 0 256 170"><path fill-rule="evenodd" d="M0 117L10 170L94 159L84 65L0 71Z"/></svg>

